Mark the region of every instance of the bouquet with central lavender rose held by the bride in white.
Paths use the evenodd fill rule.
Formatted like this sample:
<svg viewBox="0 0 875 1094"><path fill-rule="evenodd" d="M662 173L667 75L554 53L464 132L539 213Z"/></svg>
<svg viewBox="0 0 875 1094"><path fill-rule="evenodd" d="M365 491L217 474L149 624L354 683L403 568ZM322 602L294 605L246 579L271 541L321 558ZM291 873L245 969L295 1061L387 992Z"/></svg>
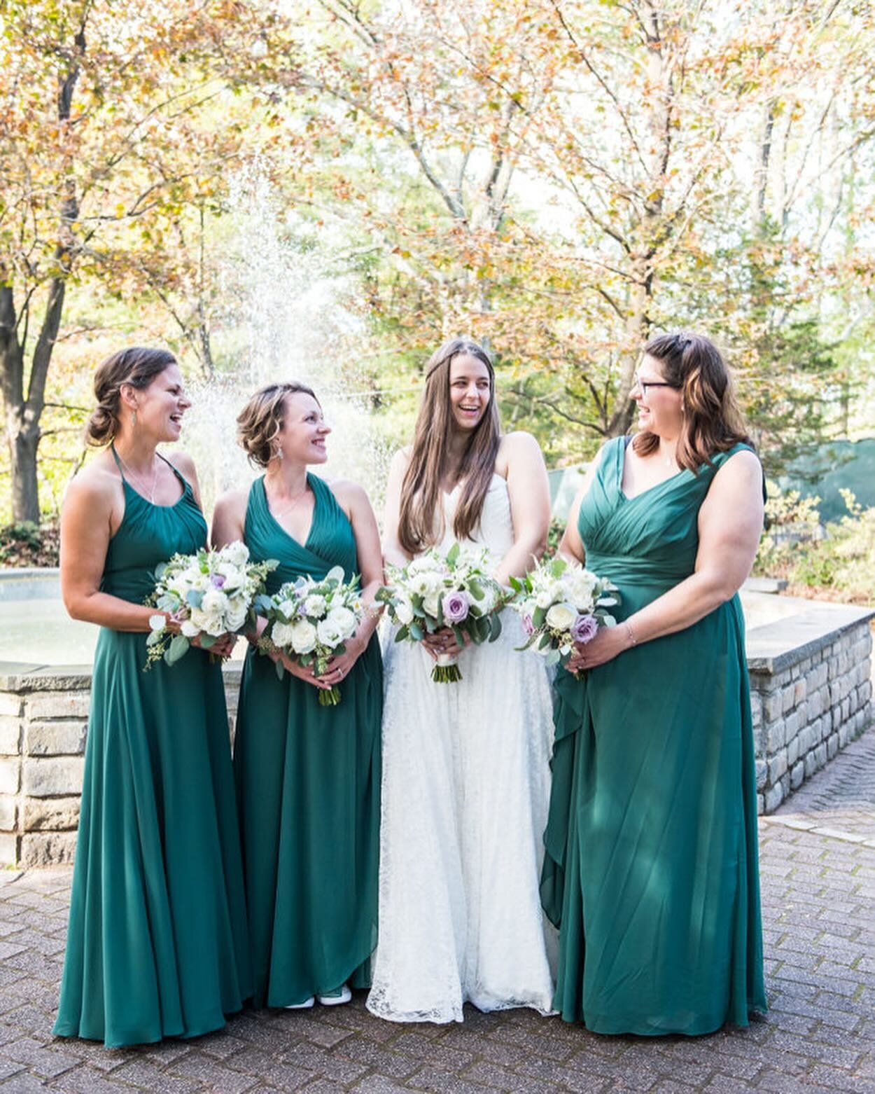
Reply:
<svg viewBox="0 0 875 1094"><path fill-rule="evenodd" d="M459 645L494 642L501 633L499 613L503 590L488 570L486 548L453 544L446 555L427 551L402 569L388 567L390 583L376 594L398 624L396 642L421 642L427 635L450 627ZM436 684L462 679L452 654L442 653L432 670Z"/></svg>

